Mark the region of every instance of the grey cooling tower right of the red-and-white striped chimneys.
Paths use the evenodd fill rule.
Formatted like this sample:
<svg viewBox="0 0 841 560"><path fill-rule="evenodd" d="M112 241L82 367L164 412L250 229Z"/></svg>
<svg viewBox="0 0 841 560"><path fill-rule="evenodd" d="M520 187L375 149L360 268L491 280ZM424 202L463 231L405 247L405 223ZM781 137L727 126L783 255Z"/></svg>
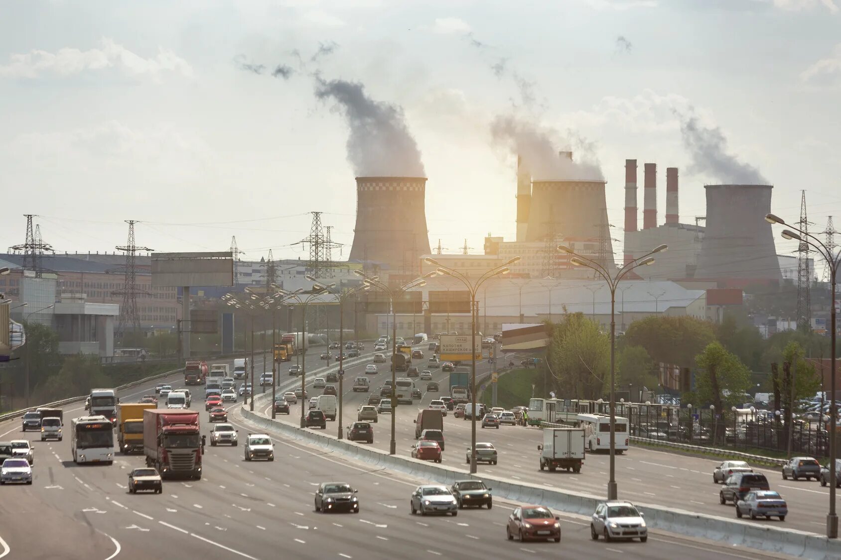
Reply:
<svg viewBox="0 0 841 560"><path fill-rule="evenodd" d="M696 278L780 281L770 185L706 185L706 230Z"/></svg>

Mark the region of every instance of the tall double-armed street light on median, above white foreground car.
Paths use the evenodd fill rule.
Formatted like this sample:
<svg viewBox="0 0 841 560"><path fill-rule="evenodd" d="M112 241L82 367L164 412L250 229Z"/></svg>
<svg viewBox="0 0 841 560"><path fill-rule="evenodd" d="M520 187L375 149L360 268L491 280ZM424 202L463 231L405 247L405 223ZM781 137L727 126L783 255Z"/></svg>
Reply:
<svg viewBox="0 0 841 560"><path fill-rule="evenodd" d="M611 273L600 263L595 262L586 256L581 256L568 246L559 245L558 249L573 255L569 262L575 266L588 267L597 272L605 279L607 287L611 290L611 475L607 483L607 499L616 499L616 288L619 281L634 268L653 264L656 253L661 253L669 246L660 245L654 248L647 255L643 255L633 261L626 262L612 277Z"/></svg>

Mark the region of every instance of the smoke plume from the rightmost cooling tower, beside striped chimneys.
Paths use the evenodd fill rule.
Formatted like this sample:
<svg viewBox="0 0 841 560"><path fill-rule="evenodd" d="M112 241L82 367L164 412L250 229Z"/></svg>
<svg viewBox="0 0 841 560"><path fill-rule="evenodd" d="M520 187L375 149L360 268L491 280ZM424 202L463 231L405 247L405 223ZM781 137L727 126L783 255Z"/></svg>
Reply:
<svg viewBox="0 0 841 560"><path fill-rule="evenodd" d="M695 114L675 114L680 119L680 134L692 158L690 172L708 175L722 184L770 184L759 169L727 152L727 138L722 129L706 128L698 123Z"/></svg>

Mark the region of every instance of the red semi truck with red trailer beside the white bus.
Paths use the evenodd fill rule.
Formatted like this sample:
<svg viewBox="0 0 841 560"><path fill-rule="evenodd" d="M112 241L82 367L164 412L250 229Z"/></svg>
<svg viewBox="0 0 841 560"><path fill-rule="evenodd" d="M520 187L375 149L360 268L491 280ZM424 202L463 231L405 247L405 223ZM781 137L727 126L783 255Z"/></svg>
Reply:
<svg viewBox="0 0 841 560"><path fill-rule="evenodd" d="M202 478L202 438L198 412L187 409L145 409L143 450L146 467L161 478Z"/></svg>

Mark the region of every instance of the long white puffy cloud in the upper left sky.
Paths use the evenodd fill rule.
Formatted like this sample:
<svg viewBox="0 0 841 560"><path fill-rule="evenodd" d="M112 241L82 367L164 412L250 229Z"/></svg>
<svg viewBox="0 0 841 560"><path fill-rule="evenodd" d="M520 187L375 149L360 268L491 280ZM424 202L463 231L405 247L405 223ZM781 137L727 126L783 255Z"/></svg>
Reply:
<svg viewBox="0 0 841 560"><path fill-rule="evenodd" d="M32 50L26 54L10 55L8 65L0 66L0 77L37 78L46 74L66 77L108 68L119 69L131 77L158 78L164 72L193 76L193 68L172 50L158 47L155 57L143 58L114 40L103 37L99 40L99 47L90 50L66 47L54 53Z"/></svg>

